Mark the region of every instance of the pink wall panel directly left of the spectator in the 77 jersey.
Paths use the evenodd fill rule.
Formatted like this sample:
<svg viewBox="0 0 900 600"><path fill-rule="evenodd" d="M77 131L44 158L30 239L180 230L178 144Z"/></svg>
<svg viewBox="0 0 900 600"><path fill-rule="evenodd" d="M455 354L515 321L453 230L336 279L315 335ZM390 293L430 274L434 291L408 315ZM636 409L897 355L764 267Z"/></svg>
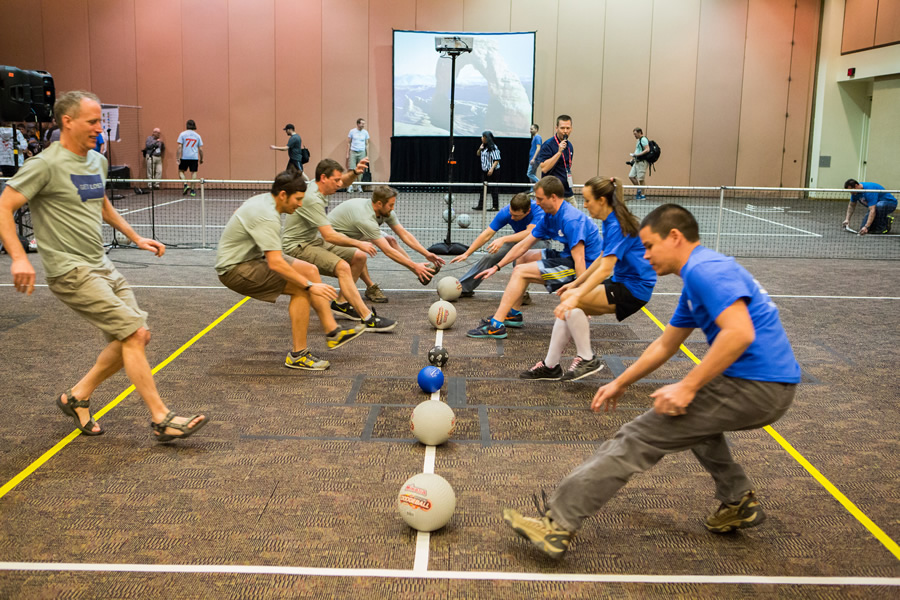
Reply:
<svg viewBox="0 0 900 600"><path fill-rule="evenodd" d="M145 140L154 127L160 128L166 144L163 178L177 179L175 141L185 122L181 102L181 0L135 0L134 17L140 24L135 29L135 65L141 139Z"/></svg>

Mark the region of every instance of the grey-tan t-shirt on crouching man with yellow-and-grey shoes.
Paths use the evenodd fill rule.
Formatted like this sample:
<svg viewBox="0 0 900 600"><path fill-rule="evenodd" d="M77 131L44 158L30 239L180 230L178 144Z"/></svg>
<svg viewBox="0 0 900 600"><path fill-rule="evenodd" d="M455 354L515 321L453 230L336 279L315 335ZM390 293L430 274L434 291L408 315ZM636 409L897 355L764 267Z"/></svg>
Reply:
<svg viewBox="0 0 900 600"><path fill-rule="evenodd" d="M259 194L228 219L216 250L216 273L224 275L235 265L264 258L272 250L281 250L281 215L272 194Z"/></svg>

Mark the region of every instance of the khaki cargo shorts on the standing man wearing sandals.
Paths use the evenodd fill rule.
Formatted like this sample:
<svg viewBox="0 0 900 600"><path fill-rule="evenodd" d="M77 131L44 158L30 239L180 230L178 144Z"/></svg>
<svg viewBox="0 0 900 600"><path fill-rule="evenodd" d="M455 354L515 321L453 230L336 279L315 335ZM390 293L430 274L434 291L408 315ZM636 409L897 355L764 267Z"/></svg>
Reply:
<svg viewBox="0 0 900 600"><path fill-rule="evenodd" d="M48 277L53 295L103 332L106 341L122 341L147 326L128 282L115 268L75 267L59 277Z"/></svg>

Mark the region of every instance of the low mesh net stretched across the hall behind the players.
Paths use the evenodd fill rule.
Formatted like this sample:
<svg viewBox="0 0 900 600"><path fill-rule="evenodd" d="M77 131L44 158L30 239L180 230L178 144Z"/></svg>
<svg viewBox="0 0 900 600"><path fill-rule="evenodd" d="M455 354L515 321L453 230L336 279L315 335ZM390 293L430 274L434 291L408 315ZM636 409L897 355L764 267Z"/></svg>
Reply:
<svg viewBox="0 0 900 600"><path fill-rule="evenodd" d="M149 189L143 179L110 181L113 205L141 235L177 248L215 248L222 229L234 210L254 194L265 193L271 181L198 179L196 196L184 193L181 180L162 180L160 189ZM329 197L329 209L352 197L370 197L379 183L362 183L363 191L339 191ZM531 192L529 184L434 184L389 183L399 190L396 214L403 226L426 247L445 241L450 219L451 241L471 244L489 226L489 186L500 193L500 206L519 192ZM762 187L644 186L645 199L634 199L635 186L626 185L631 211L643 218L664 203L681 204L700 224L704 245L737 257L772 258L900 258L898 231L855 235L842 225L850 198L848 190ZM135 189L145 193L136 193ZM582 186L576 186L573 204L584 210ZM452 190L452 210L448 211ZM888 191L895 197L897 191ZM482 210L474 210L476 206ZM867 209L858 206L850 227L858 230ZM464 216L465 215L465 216ZM599 223L598 223L599 225ZM121 234L104 225L110 244L127 244Z"/></svg>

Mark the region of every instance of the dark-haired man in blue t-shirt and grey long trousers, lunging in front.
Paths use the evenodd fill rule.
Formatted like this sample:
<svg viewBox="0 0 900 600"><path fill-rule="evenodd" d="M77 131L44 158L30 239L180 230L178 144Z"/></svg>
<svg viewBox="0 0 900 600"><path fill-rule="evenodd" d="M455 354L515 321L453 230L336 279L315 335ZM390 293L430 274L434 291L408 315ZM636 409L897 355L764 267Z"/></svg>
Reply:
<svg viewBox="0 0 900 600"><path fill-rule="evenodd" d="M691 450L712 475L722 503L706 520L707 529L726 533L765 520L753 484L731 457L724 432L773 423L794 399L800 365L778 309L733 258L700 245L697 221L683 207L656 208L641 222L639 233L644 256L657 274L678 274L684 288L662 335L597 391L591 408L615 409L628 386L665 364L695 328L703 330L710 347L681 381L650 394L652 409L622 426L563 479L539 518L503 511L519 535L553 558L565 554L584 519L633 475L684 450Z"/></svg>

